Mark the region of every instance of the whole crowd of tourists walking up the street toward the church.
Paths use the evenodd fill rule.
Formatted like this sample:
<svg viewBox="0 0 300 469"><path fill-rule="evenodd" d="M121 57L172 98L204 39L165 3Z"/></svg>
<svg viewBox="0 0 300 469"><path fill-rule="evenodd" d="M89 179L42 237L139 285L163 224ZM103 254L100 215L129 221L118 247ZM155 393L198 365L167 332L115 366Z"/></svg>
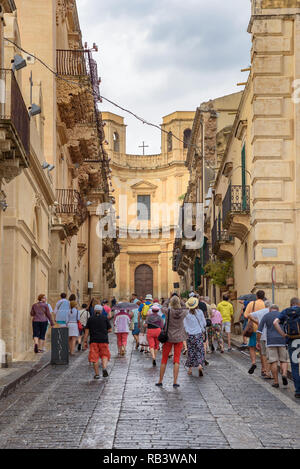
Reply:
<svg viewBox="0 0 300 469"><path fill-rule="evenodd" d="M233 306L228 296L216 306L208 297L200 297L191 292L187 301L173 293L167 300L153 300L151 294L138 298L133 294L129 303L117 302L114 299L112 308L106 300L92 300L90 305L77 307L76 296L67 299L65 293L57 302L53 316L52 308L45 295L39 295L38 302L32 306L34 351L44 350L45 334L48 324L69 328L69 348L71 355L90 345L89 361L94 364L95 379L99 379L99 360L102 361L103 376L108 376L107 364L110 360L108 334L117 335L118 356L126 354L127 340L130 331L135 339L135 349L141 353L151 354L152 365L157 365L158 351L162 351L159 381L163 379L169 358L173 356L173 386L179 387L178 373L181 355L186 355L185 367L188 375L193 368L200 377L204 375L204 366L208 365L207 354L214 353L216 348L224 353L223 335L227 335L228 348L231 347L231 325ZM113 327L110 320L113 317ZM243 302L244 343L249 347L251 367L249 374L255 372L257 351L260 352L262 377L273 379L274 388L279 388L278 364L280 364L283 386L288 385L288 361L290 358L292 376L295 384L295 397L300 398L299 345L300 345L300 300L293 298L290 308L279 312L265 298L263 291L258 291L255 300ZM246 343L249 338L248 344Z"/></svg>

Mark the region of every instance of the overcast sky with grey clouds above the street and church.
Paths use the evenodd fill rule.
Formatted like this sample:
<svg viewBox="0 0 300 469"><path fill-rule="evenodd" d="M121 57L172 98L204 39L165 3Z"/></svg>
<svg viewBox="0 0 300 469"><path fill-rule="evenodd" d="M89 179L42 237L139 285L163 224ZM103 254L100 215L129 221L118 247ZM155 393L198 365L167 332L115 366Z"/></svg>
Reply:
<svg viewBox="0 0 300 469"><path fill-rule="evenodd" d="M240 91L250 64L250 0L77 0L83 40L96 42L101 93L161 124L174 111ZM160 132L125 117L127 152L160 153Z"/></svg>

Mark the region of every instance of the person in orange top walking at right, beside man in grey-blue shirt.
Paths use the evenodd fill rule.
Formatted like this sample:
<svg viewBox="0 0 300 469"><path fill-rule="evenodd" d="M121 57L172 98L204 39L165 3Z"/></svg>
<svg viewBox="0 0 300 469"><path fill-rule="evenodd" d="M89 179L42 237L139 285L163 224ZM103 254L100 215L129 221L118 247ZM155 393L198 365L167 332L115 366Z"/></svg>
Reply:
<svg viewBox="0 0 300 469"><path fill-rule="evenodd" d="M250 318L251 313L256 313L256 311L260 311L261 309L265 308L265 292L263 290L259 290L256 293L256 300L250 301L248 304L246 311L244 313L245 319L248 319L248 324L244 330L244 335L249 337L249 352L251 358L251 367L248 370L249 375L253 375L254 371L256 370L256 331L258 329L258 325Z"/></svg>

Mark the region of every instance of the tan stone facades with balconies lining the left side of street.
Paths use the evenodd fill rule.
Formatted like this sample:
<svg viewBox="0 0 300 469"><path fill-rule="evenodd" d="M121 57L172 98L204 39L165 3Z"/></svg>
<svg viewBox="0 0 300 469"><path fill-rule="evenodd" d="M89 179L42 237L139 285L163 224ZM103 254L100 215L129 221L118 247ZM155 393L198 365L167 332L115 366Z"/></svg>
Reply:
<svg viewBox="0 0 300 469"><path fill-rule="evenodd" d="M0 338L21 360L37 295L53 306L62 291L79 303L109 296L118 245L96 232L97 206L111 201L110 172L96 64L82 44L76 2L0 4ZM14 72L13 59L25 61ZM38 115L30 116L32 104Z"/></svg>

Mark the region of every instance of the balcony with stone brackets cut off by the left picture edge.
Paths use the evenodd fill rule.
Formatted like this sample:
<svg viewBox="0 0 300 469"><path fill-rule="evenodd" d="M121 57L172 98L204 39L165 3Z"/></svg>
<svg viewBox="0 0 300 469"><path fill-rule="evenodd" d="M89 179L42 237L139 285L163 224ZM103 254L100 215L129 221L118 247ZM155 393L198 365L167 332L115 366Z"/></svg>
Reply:
<svg viewBox="0 0 300 469"><path fill-rule="evenodd" d="M30 119L12 70L0 69L0 181L29 166Z"/></svg>

